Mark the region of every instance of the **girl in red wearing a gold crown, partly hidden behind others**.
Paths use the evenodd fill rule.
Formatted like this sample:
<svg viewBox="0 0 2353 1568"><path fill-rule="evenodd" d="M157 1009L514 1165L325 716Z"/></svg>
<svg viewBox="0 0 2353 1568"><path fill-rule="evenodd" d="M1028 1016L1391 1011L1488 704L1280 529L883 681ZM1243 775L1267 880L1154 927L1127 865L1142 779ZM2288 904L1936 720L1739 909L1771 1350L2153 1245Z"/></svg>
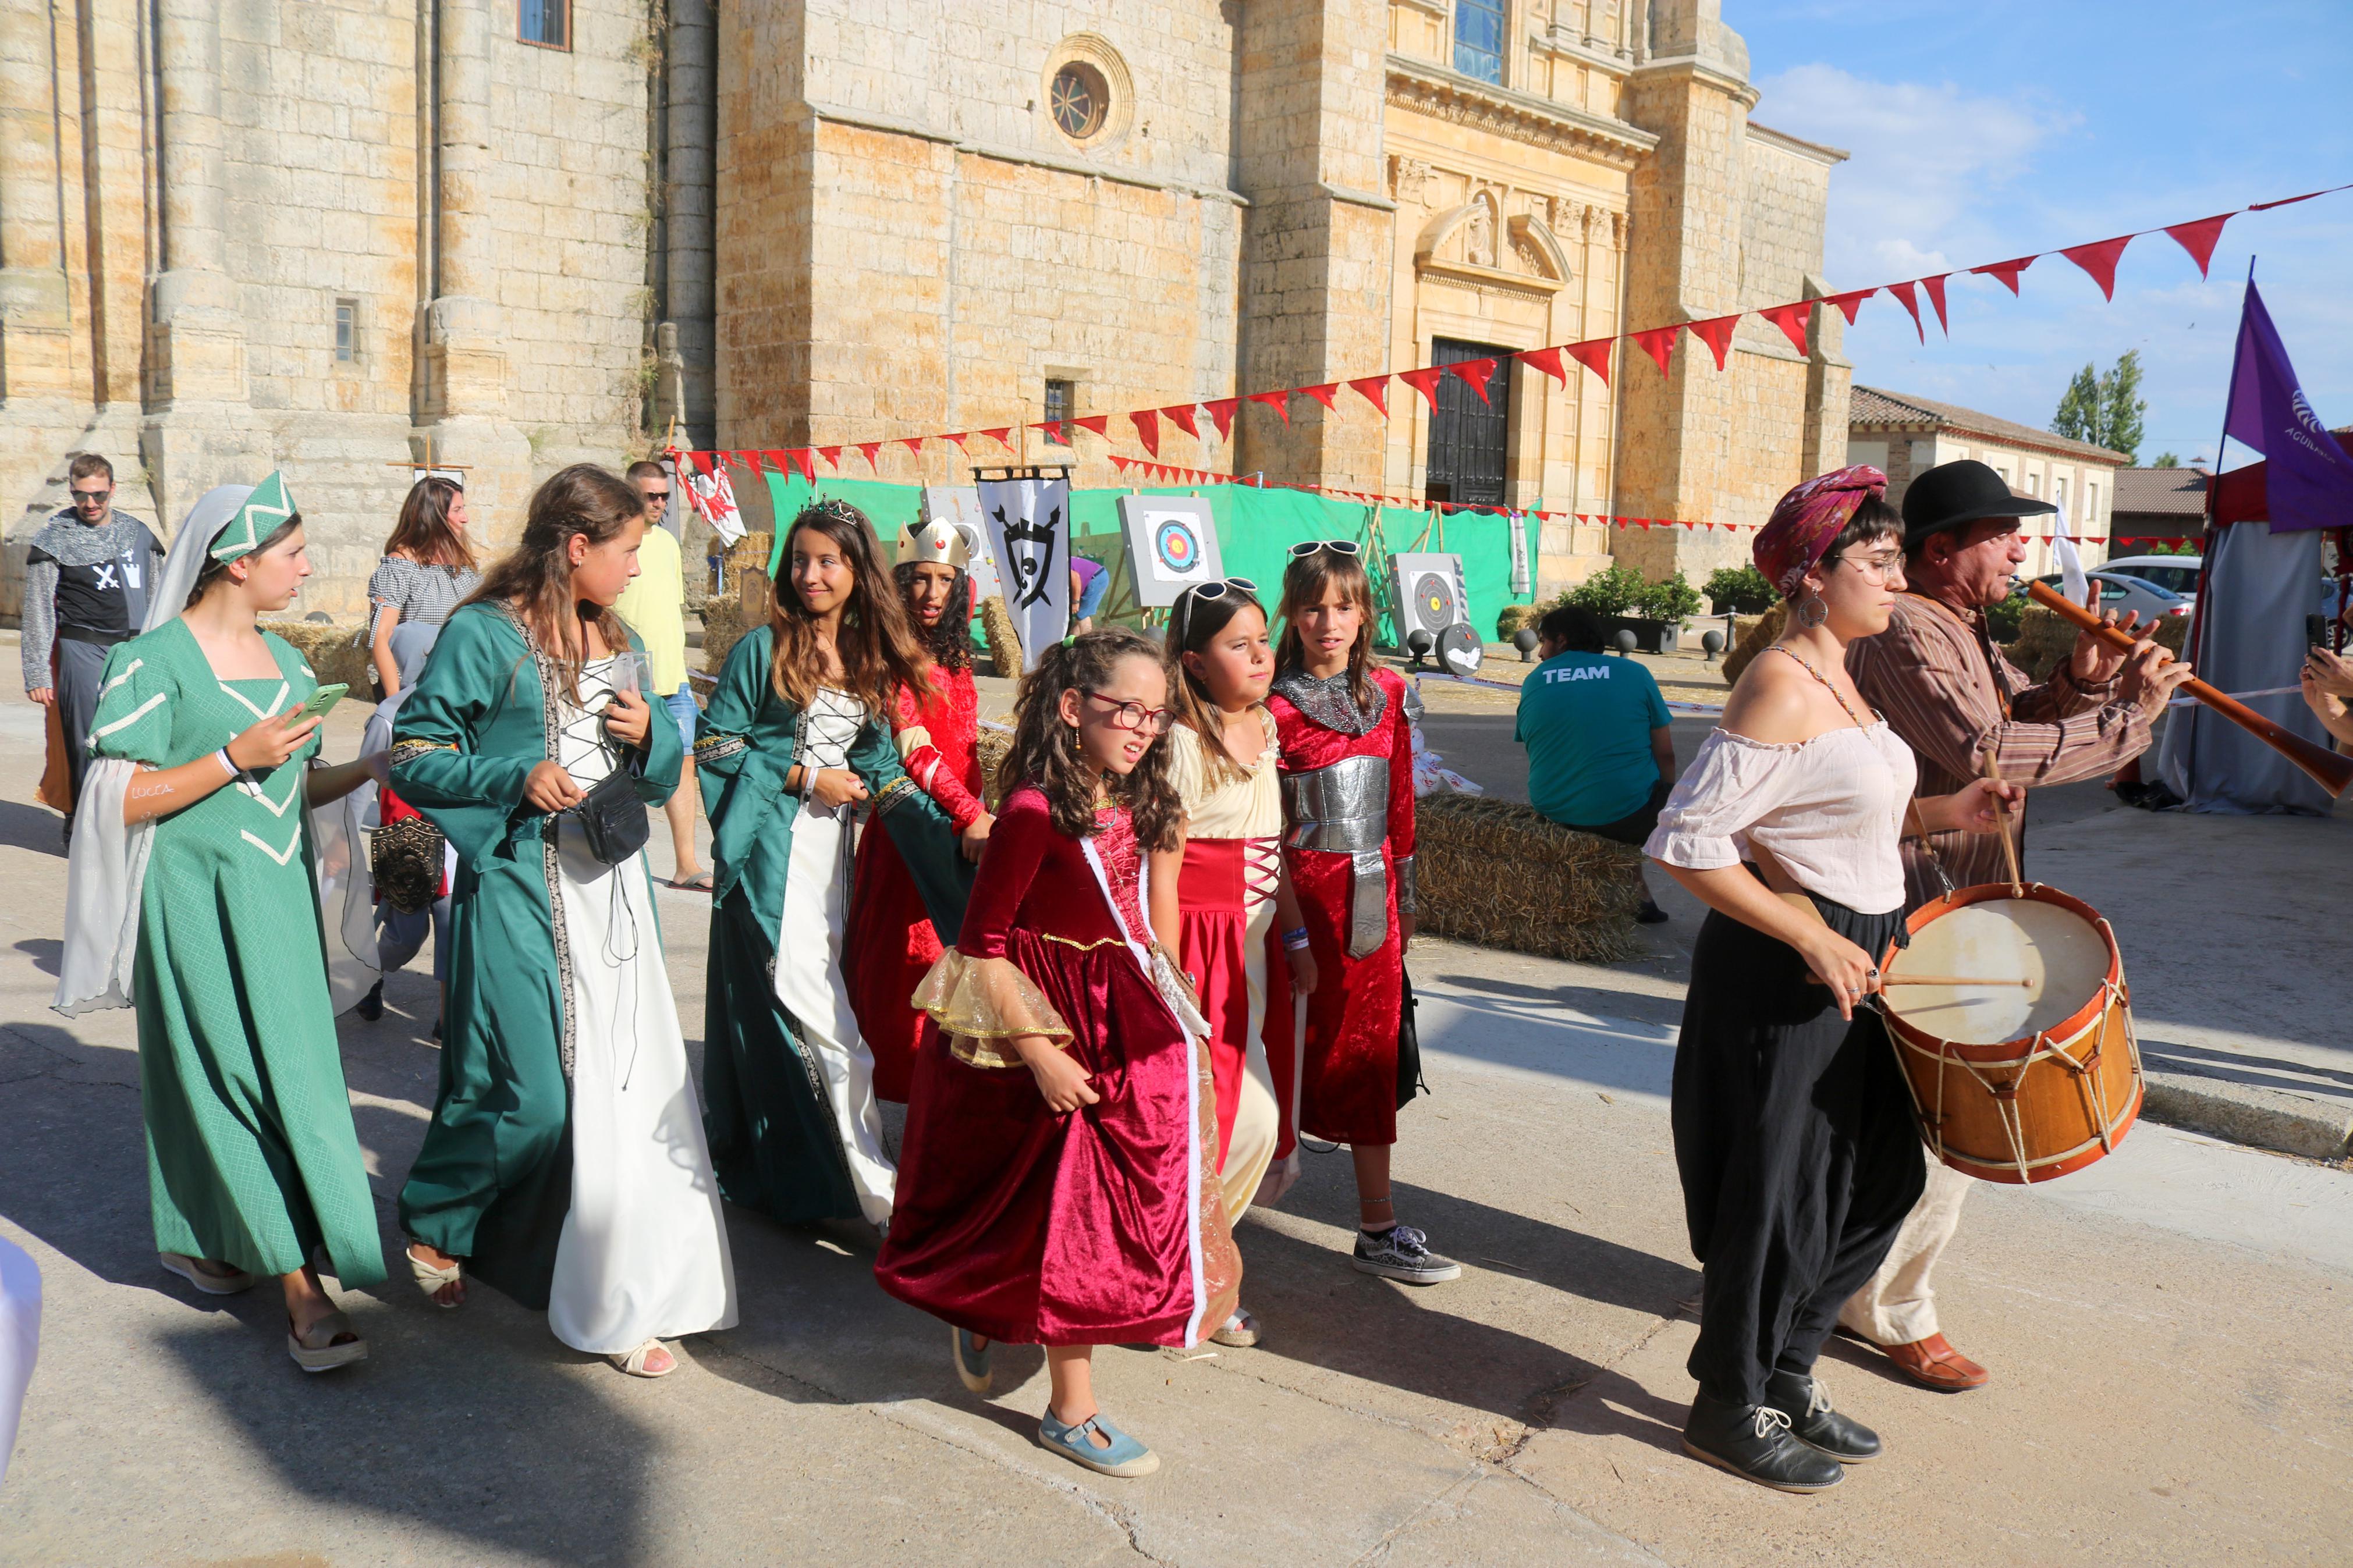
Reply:
<svg viewBox="0 0 2353 1568"><path fill-rule="evenodd" d="M899 564L892 571L908 618L932 656L932 696L918 703L906 686L899 689L892 738L906 776L948 813L965 858L979 860L995 818L981 806L981 759L974 752L981 705L972 689L972 578L965 576L965 536L955 524L911 524L899 531ZM915 1072L915 1025L922 1023L908 997L939 961L939 933L932 931L899 846L887 832L861 835L842 980L849 985L859 1034L875 1053L880 1100L906 1105Z"/></svg>

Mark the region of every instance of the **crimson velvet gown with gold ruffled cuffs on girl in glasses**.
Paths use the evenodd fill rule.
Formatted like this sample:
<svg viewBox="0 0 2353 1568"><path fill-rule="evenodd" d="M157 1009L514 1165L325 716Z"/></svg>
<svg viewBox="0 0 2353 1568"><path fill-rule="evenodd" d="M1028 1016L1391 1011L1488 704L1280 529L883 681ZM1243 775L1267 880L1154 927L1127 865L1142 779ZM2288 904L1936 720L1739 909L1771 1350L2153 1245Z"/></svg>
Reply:
<svg viewBox="0 0 2353 1568"><path fill-rule="evenodd" d="M958 947L920 990L899 1201L875 1260L887 1293L1014 1345L1193 1345L1233 1312L1242 1265L1207 1053L1148 931L1125 809L1068 839L1035 785L1005 799ZM1049 1112L1009 1044L1024 1032L1071 1051L1101 1103Z"/></svg>

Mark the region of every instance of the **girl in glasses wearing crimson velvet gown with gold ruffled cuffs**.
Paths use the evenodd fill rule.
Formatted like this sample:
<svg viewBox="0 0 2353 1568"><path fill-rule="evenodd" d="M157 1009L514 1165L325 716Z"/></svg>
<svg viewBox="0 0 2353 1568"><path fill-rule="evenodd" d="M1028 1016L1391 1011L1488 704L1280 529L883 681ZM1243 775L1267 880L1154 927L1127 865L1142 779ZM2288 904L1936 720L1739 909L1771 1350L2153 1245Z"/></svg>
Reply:
<svg viewBox="0 0 2353 1568"><path fill-rule="evenodd" d="M1217 1185L1207 1023L1144 917L1179 832L1158 644L1087 632L1021 682L1005 795L925 1011L899 1201L875 1279L953 1324L988 1389L995 1340L1045 1345L1038 1441L1089 1469L1160 1460L1101 1418L1096 1345L1195 1345L1242 1262ZM1026 1072L1024 1072L1026 1067Z"/></svg>

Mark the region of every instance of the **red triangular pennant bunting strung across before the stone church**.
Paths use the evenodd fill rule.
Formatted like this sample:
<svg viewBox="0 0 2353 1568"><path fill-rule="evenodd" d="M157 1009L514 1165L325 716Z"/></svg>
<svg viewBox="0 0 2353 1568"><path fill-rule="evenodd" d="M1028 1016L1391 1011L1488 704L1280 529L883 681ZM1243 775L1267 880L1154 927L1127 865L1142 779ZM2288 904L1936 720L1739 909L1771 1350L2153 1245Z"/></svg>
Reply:
<svg viewBox="0 0 2353 1568"><path fill-rule="evenodd" d="M1532 367L1532 369L1551 376L1560 386L1567 386L1569 374L1574 374L1574 371L1569 371L1569 367L1565 364L1565 360L1574 360L1579 367L1584 367L1586 371L1591 371L1593 376L1598 376L1602 381L1602 386L1607 386L1609 383L1612 360L1624 362L1624 357L1619 355L1619 348L1617 348L1619 343L1631 343L1631 346L1640 348L1642 355L1649 357L1649 362L1659 367L1659 374L1666 376L1666 374L1671 374L1668 371L1668 362L1671 362L1671 355L1675 350L1675 336L1678 334L1689 334L1689 336L1699 339L1701 343L1706 343L1708 355L1715 360L1715 369L1725 369L1727 357L1732 353L1732 334L1739 327L1739 322L1741 322L1744 315L1755 315L1755 317L1760 317L1760 320L1779 327L1781 334L1791 341L1791 348L1795 348L1800 355L1807 355L1809 353L1809 348L1807 348L1807 341L1809 341L1807 327L1812 322L1812 313L1814 313L1817 306L1835 306L1838 313L1852 327L1857 322L1857 317L1861 315L1864 301L1868 301L1875 294L1887 294L1899 306L1904 306L1906 315L1911 315L1913 329L1920 334L1920 341L1927 343L1927 322L1920 315L1920 296L1927 294L1927 303L1937 313L1937 329L1944 331L1946 336L1951 336L1953 322L1951 322L1951 313L1948 313L1948 306L1946 306L1946 284L1953 277L1958 277L1958 275L1993 277L2005 289L2009 289L2012 296L2017 296L2019 294L2019 277L2026 273L2026 268L2031 268L2035 261L2042 261L2045 256L2066 256L2094 284L2099 284L2101 299L2113 301L2115 299L2115 266L2122 259L2125 247L2132 244L2134 240L2144 237L2144 235L2160 235L2162 233L2162 235L2172 237L2188 254L2188 259L2198 263L2198 275L2205 277L2207 275L2207 266L2214 261L2214 247L2221 240L2221 228L2231 219L2235 219L2240 214L2247 214L2247 212L2271 212L2273 207L2292 207L2297 202L2311 202L2313 197L2337 195L2339 190L2353 190L2353 183L2329 186L2325 190L2306 190L2304 195L2287 195L2287 197L2280 197L2280 200L2273 200L2273 202L2249 202L2247 207L2233 207L2231 212L2219 212L2219 214L2207 216L2207 219L2188 219L2184 223L2162 223L2158 228L2137 228L2137 230L2132 230L2127 235L2111 235L2108 240L2092 240L2089 244L2066 244L2066 247L2049 249L2049 252L2033 252L2033 254L2026 254L2026 256L2012 256L2009 261L1988 261L1984 266L1951 268L1946 273L1934 273L1934 275L1927 275L1927 277L1908 277L1904 282L1885 282L1885 284L1873 284L1868 289L1847 289L1845 294L1824 294L1824 296L1817 296L1817 299L1795 299L1795 301L1779 303L1779 306L1760 306L1755 310L1734 310L1732 315L1718 315L1718 317L1708 317L1708 320L1699 320L1699 322L1675 322L1675 324L1668 324L1668 327L1645 327L1640 331L1624 331L1624 334L1602 336L1602 339L1586 339L1581 343L1555 343L1551 348L1522 348L1522 350L1518 350L1513 355L1489 355L1489 357L1482 357L1482 360L1454 360L1449 364L1421 364L1421 367L1414 367L1414 369L1381 371L1377 376L1355 376L1355 378L1348 378L1348 381L1325 381L1320 386L1294 386L1294 388L1280 388L1280 390L1271 390L1271 393L1242 393L1238 397L1212 397L1212 400L1179 402L1179 404L1167 404L1167 407L1158 407L1158 409L1129 409L1127 414L1087 414L1087 416L1078 416L1078 418L1047 418L1047 421L1035 421L1035 423L1031 423L1026 428L1042 433L1056 447L1071 447L1073 454L1075 454L1073 425L1078 430L1085 430L1085 433L1094 435L1094 437L1101 437L1104 442L1118 442L1120 437L1111 435L1111 421L1113 418L1125 418L1127 425L1134 433L1134 440L1151 456L1148 458L1122 458L1118 454L1111 454L1113 463L1120 465L1122 473L1146 470L1146 473L1153 473L1153 475L1181 475L1179 480L1155 480L1155 482L1231 484L1231 482L1235 482L1233 475L1209 473L1209 470L1200 470L1200 468L1176 468L1176 465L1160 463L1158 458L1160 458L1162 421L1167 421L1176 430L1191 435L1202 447L1209 447L1212 437L1205 433L1205 421L1200 418L1200 414L1207 414L1209 416L1207 418L1207 430L1217 433L1214 442L1221 442L1221 444L1231 447L1231 442L1233 442L1233 418L1235 418L1235 414L1240 411L1240 407L1245 402L1257 402L1257 404L1264 404L1264 407L1273 409L1275 416L1282 418L1282 423L1287 425L1287 423L1292 423L1292 397L1311 397L1311 400L1320 402L1327 411L1339 414L1339 397L1341 397L1344 388L1353 390L1362 402L1372 404L1374 414L1379 414L1381 418L1388 418L1391 416L1391 409L1388 409L1388 383L1391 383L1391 378L1402 381L1409 388L1414 388L1417 393L1421 393L1421 397L1428 402L1431 411L1435 414L1438 411L1438 388L1445 383L1447 376L1459 378L1464 386L1471 388L1473 395L1478 395L1480 402L1487 402L1487 386L1492 383L1497 367L1506 357L1508 360L1520 360L1522 364L1527 364L1527 367ZM941 435L901 435L901 437L880 440L880 442L842 442L838 447L791 447L791 449L774 449L774 447L769 447L769 449L741 449L741 451L685 451L682 456L689 458L694 463L694 468L704 477L711 477L713 470L720 463L732 463L736 468L748 470L755 477L762 473L762 468L772 468L779 475L793 475L793 473L798 473L802 480L807 480L807 482L814 484L816 482L816 465L819 463L824 463L831 473L845 473L842 463L845 463L845 454L849 454L849 451L856 451L866 461L868 473L880 475L880 470L882 470L880 468L880 458L882 458L882 449L885 447L906 447L911 454L915 454L920 458L927 442L948 442L951 447L958 449L958 454L962 454L962 456L969 458L969 456L974 456L972 444L969 444L974 437L986 437L986 440L995 442L998 447L1002 447L1007 454L1019 456L1019 449L1014 447L1014 425L995 425L991 430L951 430L951 433L941 433ZM1466 505L1466 503L1431 503L1431 501L1424 501L1419 496L1372 496L1372 494L1365 494L1365 491L1341 491L1341 489L1325 489L1325 487L1315 487L1315 484L1292 484L1287 489L1311 489L1311 491L1322 491L1322 494L1334 494L1334 496L1348 496L1348 498L1367 501L1367 503L1369 501L1381 501L1381 503L1417 505L1417 508L1421 508L1421 505L1440 505L1440 508L1449 508L1449 510L1501 510L1501 508L1482 508L1482 505ZM1555 520L1558 517L1577 517L1579 522L1602 522L1602 524L1612 524L1612 527L1680 527L1680 529L1739 529L1739 527L1755 527L1755 524L1729 524L1729 522L1713 522L1713 524L1711 522L1682 522L1682 520L1666 520L1666 517L1602 517L1602 515L1588 515L1588 512L1534 512L1534 515L1537 517L1555 517ZM2042 538L2047 543L2054 536L2045 534ZM2068 538L2078 538L2080 541L2080 538L2087 538L2087 536L2071 534ZM2115 541L2115 543L2122 543L2122 541Z"/></svg>

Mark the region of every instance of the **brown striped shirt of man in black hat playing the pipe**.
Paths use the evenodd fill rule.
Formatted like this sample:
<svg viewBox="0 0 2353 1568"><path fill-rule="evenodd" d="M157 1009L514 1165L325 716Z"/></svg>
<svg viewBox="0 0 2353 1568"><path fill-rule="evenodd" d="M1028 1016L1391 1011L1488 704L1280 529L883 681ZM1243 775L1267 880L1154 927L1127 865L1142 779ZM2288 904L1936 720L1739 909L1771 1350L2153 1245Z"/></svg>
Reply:
<svg viewBox="0 0 2353 1568"><path fill-rule="evenodd" d="M2078 682L2066 661L2040 686L2026 684L2026 672L1986 635L1984 614L1962 618L1913 592L1897 595L1885 632L1847 649L1847 675L1918 755L1920 795L1953 795L1984 778L1988 738L2012 783L2099 778L2148 748L2155 719L2153 705L2118 701L2113 679ZM1929 842L1953 886L2009 877L2002 842L1991 832L1939 832ZM1908 907L1944 891L1918 839L1904 842L1904 882Z"/></svg>

